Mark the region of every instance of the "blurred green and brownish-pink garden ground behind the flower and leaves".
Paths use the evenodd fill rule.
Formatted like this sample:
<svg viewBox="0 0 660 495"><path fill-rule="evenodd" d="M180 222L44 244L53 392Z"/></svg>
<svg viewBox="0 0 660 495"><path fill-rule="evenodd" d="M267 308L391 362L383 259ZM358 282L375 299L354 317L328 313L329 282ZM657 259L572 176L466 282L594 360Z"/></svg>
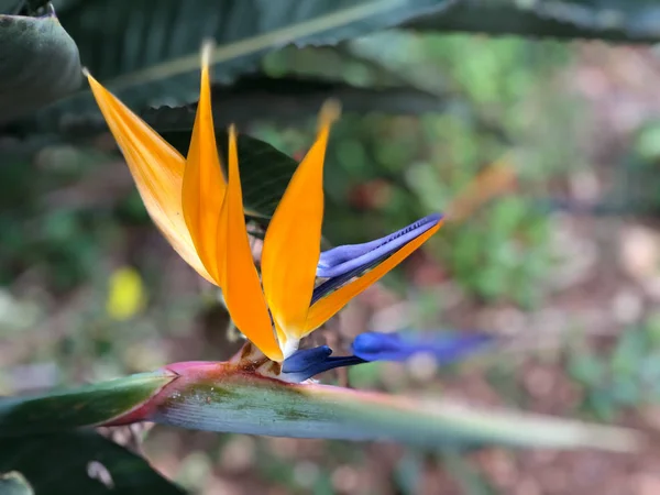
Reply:
<svg viewBox="0 0 660 495"><path fill-rule="evenodd" d="M443 394L657 438L652 46L385 30L268 52L258 74L280 86L260 87L266 103L244 97L248 114L265 107L241 131L296 160L322 100L344 103L326 166L333 244L447 210L492 164L516 174L316 337L346 350L365 330L451 329L506 344L451 367L370 363L327 373L324 383ZM227 312L151 223L107 131L68 122L66 133L77 141L40 141L0 164L0 395L228 359L241 342ZM25 143L20 128L2 140L10 151ZM156 427L142 448L157 470L202 494L651 495L660 493L658 446L625 457L429 454Z"/></svg>

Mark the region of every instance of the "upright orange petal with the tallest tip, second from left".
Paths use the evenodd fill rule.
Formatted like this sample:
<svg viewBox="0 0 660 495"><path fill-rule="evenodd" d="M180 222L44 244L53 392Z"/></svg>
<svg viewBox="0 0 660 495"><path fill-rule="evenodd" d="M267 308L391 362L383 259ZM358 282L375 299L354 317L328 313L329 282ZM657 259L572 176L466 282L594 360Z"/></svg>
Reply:
<svg viewBox="0 0 660 495"><path fill-rule="evenodd" d="M201 52L199 103L186 160L182 204L184 218L197 253L207 272L219 284L218 252L221 238L218 235L218 219L227 185L220 167L213 131L209 80L210 55L211 44L207 43Z"/></svg>

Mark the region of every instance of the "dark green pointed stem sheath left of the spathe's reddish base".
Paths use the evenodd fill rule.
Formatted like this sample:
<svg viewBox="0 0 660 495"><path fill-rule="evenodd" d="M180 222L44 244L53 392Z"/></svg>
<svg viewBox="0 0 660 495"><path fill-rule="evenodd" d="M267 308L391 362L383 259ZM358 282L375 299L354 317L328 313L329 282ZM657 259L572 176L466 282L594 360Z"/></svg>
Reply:
<svg viewBox="0 0 660 495"><path fill-rule="evenodd" d="M138 409L174 377L158 371L41 396L0 398L0 438L108 422Z"/></svg>

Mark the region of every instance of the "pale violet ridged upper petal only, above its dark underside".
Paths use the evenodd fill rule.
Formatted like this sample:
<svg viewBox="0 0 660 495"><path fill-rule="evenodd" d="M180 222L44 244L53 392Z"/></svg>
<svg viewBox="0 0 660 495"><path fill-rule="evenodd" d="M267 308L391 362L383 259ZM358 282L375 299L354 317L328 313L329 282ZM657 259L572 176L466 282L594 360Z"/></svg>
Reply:
<svg viewBox="0 0 660 495"><path fill-rule="evenodd" d="M442 216L439 213L429 215L385 238L365 242L364 244L340 245L324 251L319 258L317 277L337 277L361 266L369 265L374 260L392 254L403 248L433 226L437 226L441 219Z"/></svg>

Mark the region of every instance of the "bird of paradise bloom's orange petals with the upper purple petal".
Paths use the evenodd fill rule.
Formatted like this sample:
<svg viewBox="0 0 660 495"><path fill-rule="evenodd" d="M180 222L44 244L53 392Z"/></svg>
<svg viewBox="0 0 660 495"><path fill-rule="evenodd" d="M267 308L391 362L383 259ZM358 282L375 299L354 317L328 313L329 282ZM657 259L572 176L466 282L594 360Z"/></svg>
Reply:
<svg viewBox="0 0 660 495"><path fill-rule="evenodd" d="M442 217L432 215L387 238L321 253L323 161L330 128L340 113L339 106L329 102L321 109L316 141L270 221L260 278L245 226L233 127L227 177L218 154L209 59L207 46L187 157L86 75L154 223L193 268L222 289L237 328L268 359L282 362L296 353L300 339L436 233ZM314 352L316 362L327 362L326 348ZM294 369L302 366L306 354L297 355Z"/></svg>

